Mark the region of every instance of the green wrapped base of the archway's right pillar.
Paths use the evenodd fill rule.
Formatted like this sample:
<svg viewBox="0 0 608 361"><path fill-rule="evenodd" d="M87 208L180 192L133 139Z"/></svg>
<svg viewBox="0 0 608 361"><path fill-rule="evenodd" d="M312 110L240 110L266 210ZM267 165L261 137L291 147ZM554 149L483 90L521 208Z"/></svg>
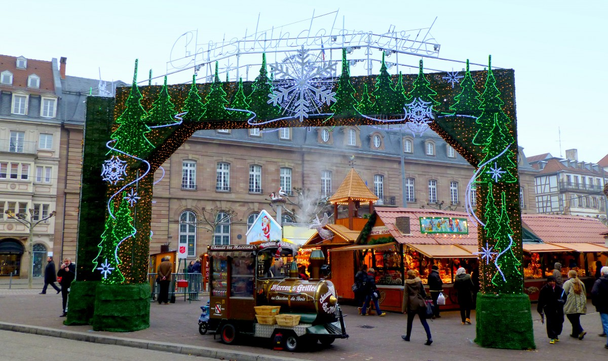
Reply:
<svg viewBox="0 0 608 361"><path fill-rule="evenodd" d="M528 295L477 294L475 343L488 348L535 349Z"/></svg>

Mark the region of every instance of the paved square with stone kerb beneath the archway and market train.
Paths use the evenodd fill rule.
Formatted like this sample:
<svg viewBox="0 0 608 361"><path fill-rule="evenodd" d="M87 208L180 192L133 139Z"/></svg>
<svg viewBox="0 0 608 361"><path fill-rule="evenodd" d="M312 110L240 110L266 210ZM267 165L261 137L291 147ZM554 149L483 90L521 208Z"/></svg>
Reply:
<svg viewBox="0 0 608 361"><path fill-rule="evenodd" d="M581 317L582 326L588 332L584 340L568 337L571 326L566 320L562 340L556 345L549 345L544 325L541 325L538 314L533 312L537 349L523 351L477 346L472 341L475 326L460 325L457 311L443 312L441 318L430 321L434 343L425 346L426 337L418 320L413 325L412 341L404 342L401 334L406 326L406 315L389 312L386 317L364 317L358 315L356 308L344 306L349 339L336 340L327 348L319 343L304 352L290 353L274 351L270 342L260 342L262 339L245 339L238 345L228 346L219 342L219 337L214 340L212 334L200 335L197 322L201 313L199 307L206 303L206 297L192 303L178 298L176 303L168 306L151 303L150 328L117 333L92 331L91 326L87 325L64 326L63 318L58 317L61 314L61 295L39 295L38 292L38 289L0 289L0 329L200 354L226 360L401 360L407 357L407 360L421 361L511 361L514 358L572 361L581 357L598 360L608 357L608 349L604 348L606 339L597 335L601 332L601 325L596 312ZM588 309L595 311L590 304ZM474 314L472 319L475 319Z"/></svg>

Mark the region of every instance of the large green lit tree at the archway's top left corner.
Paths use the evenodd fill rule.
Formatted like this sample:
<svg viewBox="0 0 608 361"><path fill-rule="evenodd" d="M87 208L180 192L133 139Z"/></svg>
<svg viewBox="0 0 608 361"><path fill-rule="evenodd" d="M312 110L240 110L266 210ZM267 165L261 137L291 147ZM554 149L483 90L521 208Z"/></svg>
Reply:
<svg viewBox="0 0 608 361"><path fill-rule="evenodd" d="M140 101L142 94L137 88L137 60L135 61L135 72L133 75L133 85L131 86L131 92L129 97L126 99L125 111L120 114L120 117L116 119L116 123L120 124L118 129L112 133L111 138L116 139L114 148L123 151L131 156L145 158L151 150L154 149L154 145L150 143L150 140L146 138L146 134L150 132L150 127L146 125L143 117L147 115L143 109ZM115 155L120 155L119 152Z"/></svg>

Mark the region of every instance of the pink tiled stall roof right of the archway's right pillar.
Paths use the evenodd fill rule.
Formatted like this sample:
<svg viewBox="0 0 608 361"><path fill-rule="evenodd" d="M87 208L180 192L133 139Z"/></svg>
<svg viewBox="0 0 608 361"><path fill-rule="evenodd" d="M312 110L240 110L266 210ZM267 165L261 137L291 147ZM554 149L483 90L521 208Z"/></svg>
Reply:
<svg viewBox="0 0 608 361"><path fill-rule="evenodd" d="M523 227L531 230L545 243L599 243L604 244L602 236L608 227L597 218L558 216L558 215L522 215Z"/></svg>

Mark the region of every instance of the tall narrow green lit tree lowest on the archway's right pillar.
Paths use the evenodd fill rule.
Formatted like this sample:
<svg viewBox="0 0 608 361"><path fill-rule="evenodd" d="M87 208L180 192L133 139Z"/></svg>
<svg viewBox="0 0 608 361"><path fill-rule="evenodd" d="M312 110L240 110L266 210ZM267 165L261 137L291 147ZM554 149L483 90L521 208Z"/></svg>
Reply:
<svg viewBox="0 0 608 361"><path fill-rule="evenodd" d="M492 277L492 284L500 287L500 291L507 294L520 294L522 292L522 273L520 272L521 261L513 253L515 246L513 241L513 230L509 225L509 215L506 211L505 192L502 192L502 212L500 213L499 229L496 231L496 247L498 252L496 258L497 271Z"/></svg>

